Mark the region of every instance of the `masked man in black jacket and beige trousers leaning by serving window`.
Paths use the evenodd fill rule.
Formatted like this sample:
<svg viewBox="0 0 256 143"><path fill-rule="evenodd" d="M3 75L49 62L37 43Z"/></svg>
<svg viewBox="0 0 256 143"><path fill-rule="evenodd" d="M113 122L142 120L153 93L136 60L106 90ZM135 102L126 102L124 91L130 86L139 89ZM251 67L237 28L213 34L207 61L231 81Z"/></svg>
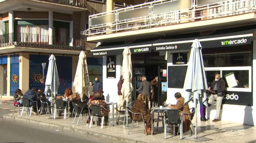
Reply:
<svg viewBox="0 0 256 143"><path fill-rule="evenodd" d="M208 89L211 90L211 96L208 100L209 104L216 104L216 115L213 121L219 121L220 109L222 106L222 99L225 94L225 81L220 78L219 74L215 75L215 80L213 84Z"/></svg>

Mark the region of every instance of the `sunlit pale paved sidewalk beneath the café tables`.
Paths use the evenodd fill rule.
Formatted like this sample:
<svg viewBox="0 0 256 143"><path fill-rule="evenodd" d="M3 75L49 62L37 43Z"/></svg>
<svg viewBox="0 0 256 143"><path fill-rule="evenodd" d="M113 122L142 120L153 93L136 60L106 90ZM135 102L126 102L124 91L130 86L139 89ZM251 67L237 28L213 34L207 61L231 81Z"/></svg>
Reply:
<svg viewBox="0 0 256 143"><path fill-rule="evenodd" d="M110 121L112 123L112 115L110 115ZM157 115L155 115L157 117ZM167 139L164 139L163 127L161 127L161 122L159 123L159 131L157 135L145 135L143 134L143 125L139 123L134 124L134 128L130 135L128 135L129 129L127 127L123 128L123 122L120 122L119 126L104 126L103 129L99 126L93 125L89 128L86 123L86 118L80 120L78 126L72 124L73 118L60 117L58 119L49 119L46 115L31 115L29 117L23 112L23 116L19 116L17 113L14 115L8 114L4 116L6 120L14 120L22 123L34 124L36 126L49 127L55 130L63 130L66 132L74 132L82 135L92 136L93 138L101 138L103 140L108 140L111 142L194 142L189 141L187 138L193 138L191 132L184 133L183 138L179 139L178 136L172 136L167 134ZM120 117L123 120L123 116ZM155 123L156 126L156 123ZM211 139L210 141L201 142L230 142L230 143L253 143L256 142L256 127L246 126L244 124L232 123L229 121L219 121L213 123L212 121L201 122L198 121L198 137L204 136L204 138Z"/></svg>

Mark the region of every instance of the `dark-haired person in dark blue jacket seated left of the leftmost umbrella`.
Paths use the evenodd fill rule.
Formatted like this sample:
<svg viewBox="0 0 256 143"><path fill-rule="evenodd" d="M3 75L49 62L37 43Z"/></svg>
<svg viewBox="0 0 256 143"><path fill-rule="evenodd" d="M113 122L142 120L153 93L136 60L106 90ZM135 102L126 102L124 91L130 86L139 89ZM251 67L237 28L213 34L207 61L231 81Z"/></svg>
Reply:
<svg viewBox="0 0 256 143"><path fill-rule="evenodd" d="M34 102L34 105L33 105L33 102L30 101L30 105L31 106L33 105L33 111L34 111L33 114L37 114L36 106L40 108L40 102L37 100L36 88L33 87L31 90L28 90L24 94L23 98L31 99L32 101L37 101L37 105L36 105L36 102Z"/></svg>

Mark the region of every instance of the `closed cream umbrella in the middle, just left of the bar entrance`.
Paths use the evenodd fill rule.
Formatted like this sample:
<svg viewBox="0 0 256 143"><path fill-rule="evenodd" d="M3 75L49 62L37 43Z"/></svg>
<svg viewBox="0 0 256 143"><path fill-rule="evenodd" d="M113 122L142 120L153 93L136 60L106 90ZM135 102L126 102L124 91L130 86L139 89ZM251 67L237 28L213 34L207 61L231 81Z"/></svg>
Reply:
<svg viewBox="0 0 256 143"><path fill-rule="evenodd" d="M131 80L133 77L133 68L131 63L131 51L128 47L123 50L123 84L122 84L122 95L123 99L128 102L131 98L131 92L133 92L133 84L131 84ZM127 104L126 104L127 105Z"/></svg>

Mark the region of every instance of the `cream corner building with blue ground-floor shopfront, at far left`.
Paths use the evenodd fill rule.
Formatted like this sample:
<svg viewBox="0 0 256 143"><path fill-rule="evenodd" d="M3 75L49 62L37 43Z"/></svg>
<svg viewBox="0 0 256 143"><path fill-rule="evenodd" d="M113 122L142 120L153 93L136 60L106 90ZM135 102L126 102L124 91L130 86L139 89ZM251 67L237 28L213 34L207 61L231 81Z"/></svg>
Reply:
<svg viewBox="0 0 256 143"><path fill-rule="evenodd" d="M80 34L88 28L89 14L98 13L90 5L102 4L85 0L0 1L0 96L13 96L16 89L25 93L31 87L42 88L40 79L46 76L51 54L57 59L58 93L73 89L80 51L88 54L96 45ZM44 69L42 63L46 63ZM89 65L90 72L98 73L99 68L93 66L95 63Z"/></svg>

